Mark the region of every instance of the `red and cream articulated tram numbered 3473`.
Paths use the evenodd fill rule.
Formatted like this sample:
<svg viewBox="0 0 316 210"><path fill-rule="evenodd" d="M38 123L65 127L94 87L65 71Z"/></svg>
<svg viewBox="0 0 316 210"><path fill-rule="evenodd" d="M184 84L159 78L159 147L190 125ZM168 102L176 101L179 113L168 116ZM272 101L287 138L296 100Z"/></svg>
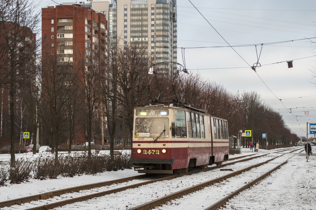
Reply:
<svg viewBox="0 0 316 210"><path fill-rule="evenodd" d="M132 152L139 173L221 164L229 156L227 120L185 104L136 107Z"/></svg>

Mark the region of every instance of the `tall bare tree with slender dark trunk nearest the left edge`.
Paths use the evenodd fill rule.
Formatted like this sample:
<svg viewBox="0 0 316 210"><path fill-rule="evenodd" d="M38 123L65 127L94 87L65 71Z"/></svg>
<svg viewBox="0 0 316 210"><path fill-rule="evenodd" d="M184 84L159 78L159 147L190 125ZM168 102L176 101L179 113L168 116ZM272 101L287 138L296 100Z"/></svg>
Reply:
<svg viewBox="0 0 316 210"><path fill-rule="evenodd" d="M39 31L40 13L28 0L2 2L0 8L1 79L9 92L11 165L15 163L15 94L27 70L35 61L35 33Z"/></svg>

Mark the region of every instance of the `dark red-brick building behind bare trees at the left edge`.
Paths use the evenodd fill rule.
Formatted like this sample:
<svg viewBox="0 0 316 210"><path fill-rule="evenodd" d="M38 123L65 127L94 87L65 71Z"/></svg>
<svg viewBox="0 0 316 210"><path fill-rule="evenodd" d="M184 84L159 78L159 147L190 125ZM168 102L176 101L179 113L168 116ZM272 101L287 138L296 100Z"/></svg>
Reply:
<svg viewBox="0 0 316 210"><path fill-rule="evenodd" d="M22 106L22 90L35 83L31 73L35 67L36 34L28 27L14 22L0 22L0 132L3 145L9 144L10 107L17 114ZM15 75L12 77L11 75ZM15 140L22 139L21 132L30 129L21 119L15 117ZM23 130L22 130L23 129ZM25 142L22 142L23 144Z"/></svg>

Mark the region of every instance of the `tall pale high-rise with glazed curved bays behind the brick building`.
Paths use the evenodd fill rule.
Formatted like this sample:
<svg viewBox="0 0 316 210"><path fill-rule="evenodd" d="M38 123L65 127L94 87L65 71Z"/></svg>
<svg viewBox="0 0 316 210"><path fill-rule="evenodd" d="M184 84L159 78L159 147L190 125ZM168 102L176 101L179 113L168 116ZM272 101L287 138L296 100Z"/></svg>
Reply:
<svg viewBox="0 0 316 210"><path fill-rule="evenodd" d="M148 43L148 56L156 71L170 75L176 71L176 0L91 0L79 4L106 15L110 44Z"/></svg>

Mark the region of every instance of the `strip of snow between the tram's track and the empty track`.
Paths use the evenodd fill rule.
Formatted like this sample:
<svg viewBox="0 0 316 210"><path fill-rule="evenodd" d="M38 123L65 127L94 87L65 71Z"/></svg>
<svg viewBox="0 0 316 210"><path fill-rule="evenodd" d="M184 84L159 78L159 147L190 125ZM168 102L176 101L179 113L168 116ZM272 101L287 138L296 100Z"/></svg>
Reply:
<svg viewBox="0 0 316 210"><path fill-rule="evenodd" d="M256 158L256 161L254 162L236 163L224 168L240 170L247 166L264 162L275 156L279 156L279 154L267 155L264 157ZM135 207L141 203L152 201L164 195L171 194L179 190L191 187L193 185L223 176L230 172L231 171L220 171L220 169L214 169L211 171L200 172L189 176L181 176L172 180L154 182L138 188L128 189L122 192L105 195L88 201L69 204L56 209L128 209L131 207Z"/></svg>

